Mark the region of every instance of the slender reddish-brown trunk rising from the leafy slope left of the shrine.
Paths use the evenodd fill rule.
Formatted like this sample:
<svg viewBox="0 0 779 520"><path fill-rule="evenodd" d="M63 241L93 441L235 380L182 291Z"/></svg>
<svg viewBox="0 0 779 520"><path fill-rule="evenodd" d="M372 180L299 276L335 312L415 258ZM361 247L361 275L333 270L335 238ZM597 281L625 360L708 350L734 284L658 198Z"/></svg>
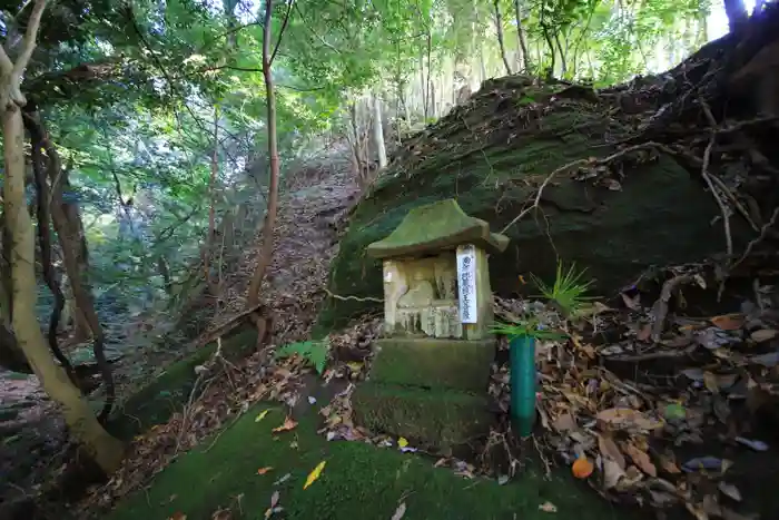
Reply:
<svg viewBox="0 0 779 520"><path fill-rule="evenodd" d="M263 77L265 78L266 104L268 109L268 158L270 160L270 183L268 186L268 209L263 224L263 248L259 252L257 267L249 283L247 307L259 304L259 290L265 279L265 272L273 261L273 235L276 226L276 213L278 212L278 144L276 141L276 92L274 91L270 65L270 16L273 14L273 0L266 0L265 24L263 27ZM278 36L279 41L282 35Z"/></svg>

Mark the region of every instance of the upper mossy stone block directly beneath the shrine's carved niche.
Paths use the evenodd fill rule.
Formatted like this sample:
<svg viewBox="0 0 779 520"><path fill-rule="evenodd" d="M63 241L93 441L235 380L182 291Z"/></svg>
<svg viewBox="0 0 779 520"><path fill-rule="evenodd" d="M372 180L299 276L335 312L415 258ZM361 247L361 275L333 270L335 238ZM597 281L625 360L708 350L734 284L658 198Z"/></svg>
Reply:
<svg viewBox="0 0 779 520"><path fill-rule="evenodd" d="M376 342L371 381L485 392L495 341L392 337Z"/></svg>

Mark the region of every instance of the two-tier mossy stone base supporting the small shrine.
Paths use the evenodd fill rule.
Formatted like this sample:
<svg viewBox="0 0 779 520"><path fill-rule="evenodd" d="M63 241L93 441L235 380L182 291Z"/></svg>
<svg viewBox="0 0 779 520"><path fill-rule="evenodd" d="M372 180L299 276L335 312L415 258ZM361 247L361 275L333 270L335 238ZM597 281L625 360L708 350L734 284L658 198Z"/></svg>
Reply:
<svg viewBox="0 0 779 520"><path fill-rule="evenodd" d="M452 448L490 432L494 340L385 339L352 403L359 424L415 445Z"/></svg>

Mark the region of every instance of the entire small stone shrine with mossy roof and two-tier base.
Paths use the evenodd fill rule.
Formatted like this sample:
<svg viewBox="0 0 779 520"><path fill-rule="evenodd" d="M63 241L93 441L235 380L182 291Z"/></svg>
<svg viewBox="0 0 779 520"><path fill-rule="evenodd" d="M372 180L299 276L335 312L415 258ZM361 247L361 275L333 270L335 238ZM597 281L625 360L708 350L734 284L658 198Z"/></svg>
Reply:
<svg viewBox="0 0 779 520"><path fill-rule="evenodd" d="M489 432L495 340L487 255L507 245L446 199L411 210L368 246L384 264L385 337L353 396L358 422L436 448Z"/></svg>

